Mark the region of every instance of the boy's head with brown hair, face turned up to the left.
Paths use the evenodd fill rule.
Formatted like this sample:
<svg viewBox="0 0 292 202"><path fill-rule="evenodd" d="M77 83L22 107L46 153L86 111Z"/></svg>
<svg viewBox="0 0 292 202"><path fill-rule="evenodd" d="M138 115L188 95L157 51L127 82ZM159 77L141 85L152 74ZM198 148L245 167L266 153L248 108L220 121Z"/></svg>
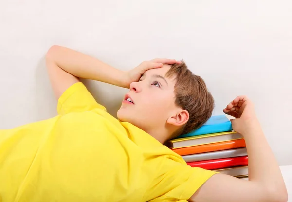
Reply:
<svg viewBox="0 0 292 202"><path fill-rule="evenodd" d="M198 129L213 109L214 99L205 82L182 62L148 70L131 83L117 115L164 142Z"/></svg>

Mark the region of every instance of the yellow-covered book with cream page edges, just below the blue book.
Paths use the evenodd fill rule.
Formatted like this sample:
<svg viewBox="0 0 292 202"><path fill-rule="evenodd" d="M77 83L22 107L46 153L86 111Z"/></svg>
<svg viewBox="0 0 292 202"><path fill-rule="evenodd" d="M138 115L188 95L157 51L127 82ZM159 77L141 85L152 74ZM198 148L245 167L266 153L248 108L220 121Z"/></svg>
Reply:
<svg viewBox="0 0 292 202"><path fill-rule="evenodd" d="M242 139L243 136L237 132L219 132L206 135L197 135L192 137L177 138L169 140L165 145L169 148L191 147L196 145L206 145L216 142L224 142L228 140Z"/></svg>

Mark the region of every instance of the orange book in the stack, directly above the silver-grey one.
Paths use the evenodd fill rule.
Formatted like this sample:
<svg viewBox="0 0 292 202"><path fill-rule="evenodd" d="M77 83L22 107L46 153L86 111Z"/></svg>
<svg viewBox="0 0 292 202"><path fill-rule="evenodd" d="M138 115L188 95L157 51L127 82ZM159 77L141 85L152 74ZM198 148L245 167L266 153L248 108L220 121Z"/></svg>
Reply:
<svg viewBox="0 0 292 202"><path fill-rule="evenodd" d="M241 147L245 147L244 139L211 143L207 145L198 145L198 146L193 146L193 147L176 148L172 150L176 152L177 154L183 156L183 155L189 155L189 154L199 154L199 153L205 153L205 152L210 152L210 151L221 151L221 150L241 148Z"/></svg>

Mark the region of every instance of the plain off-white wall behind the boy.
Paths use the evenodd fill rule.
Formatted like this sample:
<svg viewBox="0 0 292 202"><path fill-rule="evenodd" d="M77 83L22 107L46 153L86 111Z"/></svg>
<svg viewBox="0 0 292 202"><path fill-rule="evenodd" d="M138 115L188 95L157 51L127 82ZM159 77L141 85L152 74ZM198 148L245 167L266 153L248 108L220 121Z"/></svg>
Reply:
<svg viewBox="0 0 292 202"><path fill-rule="evenodd" d="M56 115L54 44L124 70L168 57L205 79L215 115L248 95L280 165L292 164L291 11L289 0L1 0L0 129ZM86 83L115 115L127 89Z"/></svg>

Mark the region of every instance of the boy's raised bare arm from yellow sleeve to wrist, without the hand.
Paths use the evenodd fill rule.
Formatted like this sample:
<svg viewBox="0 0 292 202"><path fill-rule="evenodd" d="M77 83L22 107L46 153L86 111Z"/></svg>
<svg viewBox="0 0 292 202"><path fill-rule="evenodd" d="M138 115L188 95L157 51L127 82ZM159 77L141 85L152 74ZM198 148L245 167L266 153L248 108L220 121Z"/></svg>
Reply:
<svg viewBox="0 0 292 202"><path fill-rule="evenodd" d="M79 78L124 87L121 70L69 48L52 46L46 55L46 65L56 98L78 82Z"/></svg>

